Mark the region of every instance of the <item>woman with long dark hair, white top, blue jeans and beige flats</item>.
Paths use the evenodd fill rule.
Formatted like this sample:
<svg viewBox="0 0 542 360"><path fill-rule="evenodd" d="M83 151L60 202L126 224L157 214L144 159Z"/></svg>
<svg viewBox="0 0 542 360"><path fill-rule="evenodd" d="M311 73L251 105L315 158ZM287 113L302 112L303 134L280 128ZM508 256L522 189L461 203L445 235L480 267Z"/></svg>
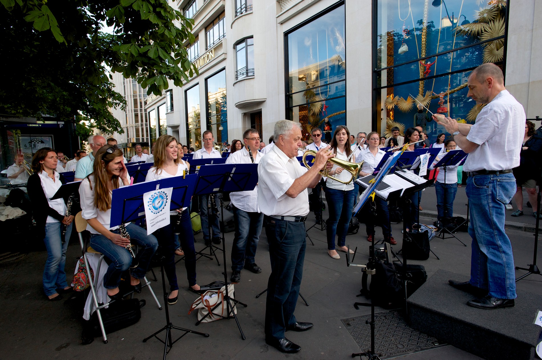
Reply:
<svg viewBox="0 0 542 360"><path fill-rule="evenodd" d="M347 161L352 149L350 148L350 132L346 126L339 125L335 128L333 138L330 144L330 151L335 154L335 158ZM333 165L329 175L335 179L347 181L351 174L347 171L343 174L343 168ZM333 259L340 259L337 250L335 250L335 235L339 237L340 251L347 252L345 246L346 233L352 217L352 208L354 207L354 184L343 184L331 178L326 181L326 200L330 212L330 217L326 220L327 234L327 253ZM350 250L350 253L354 252Z"/></svg>

